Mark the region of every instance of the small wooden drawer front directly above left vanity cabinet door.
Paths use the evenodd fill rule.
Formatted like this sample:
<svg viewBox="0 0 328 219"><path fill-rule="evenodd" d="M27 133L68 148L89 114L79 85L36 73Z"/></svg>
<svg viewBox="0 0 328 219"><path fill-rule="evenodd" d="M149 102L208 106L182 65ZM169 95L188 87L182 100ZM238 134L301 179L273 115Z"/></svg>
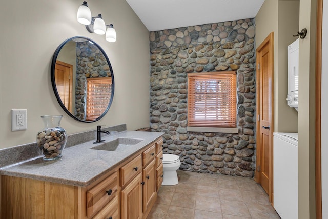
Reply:
<svg viewBox="0 0 328 219"><path fill-rule="evenodd" d="M120 168L121 171L121 186L124 186L132 178L134 178L138 173L141 172L141 154L130 161L128 164Z"/></svg>

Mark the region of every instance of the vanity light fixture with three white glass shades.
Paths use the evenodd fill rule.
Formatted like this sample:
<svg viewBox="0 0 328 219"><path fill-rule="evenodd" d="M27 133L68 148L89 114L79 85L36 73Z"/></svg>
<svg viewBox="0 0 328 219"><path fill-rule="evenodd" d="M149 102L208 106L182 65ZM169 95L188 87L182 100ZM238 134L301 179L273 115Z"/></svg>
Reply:
<svg viewBox="0 0 328 219"><path fill-rule="evenodd" d="M84 24L90 33L96 33L99 35L104 35L106 33L105 37L108 42L116 41L116 31L113 24L105 24L101 14L98 14L96 17L92 17L86 1L84 1L77 10L77 21Z"/></svg>

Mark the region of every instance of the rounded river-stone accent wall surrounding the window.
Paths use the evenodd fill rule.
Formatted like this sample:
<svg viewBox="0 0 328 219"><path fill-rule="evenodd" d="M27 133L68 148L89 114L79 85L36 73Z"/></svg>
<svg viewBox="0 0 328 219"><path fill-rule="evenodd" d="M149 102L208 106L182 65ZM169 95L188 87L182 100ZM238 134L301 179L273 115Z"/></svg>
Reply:
<svg viewBox="0 0 328 219"><path fill-rule="evenodd" d="M150 126L180 169L253 177L255 170L254 19L150 32ZM238 134L187 131L187 74L237 71Z"/></svg>

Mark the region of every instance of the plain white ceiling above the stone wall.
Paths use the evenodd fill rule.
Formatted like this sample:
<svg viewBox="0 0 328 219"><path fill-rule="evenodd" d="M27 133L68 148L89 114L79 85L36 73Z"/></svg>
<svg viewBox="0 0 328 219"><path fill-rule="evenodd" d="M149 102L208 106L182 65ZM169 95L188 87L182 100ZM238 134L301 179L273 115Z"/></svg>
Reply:
<svg viewBox="0 0 328 219"><path fill-rule="evenodd" d="M264 0L126 0L149 31L253 18Z"/></svg>

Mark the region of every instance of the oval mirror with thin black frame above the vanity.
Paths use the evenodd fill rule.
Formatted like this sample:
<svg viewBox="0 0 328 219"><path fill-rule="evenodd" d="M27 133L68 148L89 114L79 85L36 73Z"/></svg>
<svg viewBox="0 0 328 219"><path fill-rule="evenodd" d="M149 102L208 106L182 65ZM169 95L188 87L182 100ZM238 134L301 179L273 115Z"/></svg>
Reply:
<svg viewBox="0 0 328 219"><path fill-rule="evenodd" d="M58 46L51 64L51 84L60 106L81 122L100 120L114 97L114 74L106 53L83 36Z"/></svg>

